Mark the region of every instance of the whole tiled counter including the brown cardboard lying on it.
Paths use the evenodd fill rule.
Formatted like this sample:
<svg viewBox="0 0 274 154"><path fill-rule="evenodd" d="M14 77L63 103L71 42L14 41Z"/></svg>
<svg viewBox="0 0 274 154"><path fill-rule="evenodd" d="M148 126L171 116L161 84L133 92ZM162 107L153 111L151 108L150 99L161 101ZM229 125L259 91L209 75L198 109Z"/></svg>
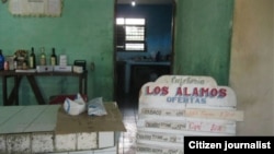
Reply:
<svg viewBox="0 0 274 154"><path fill-rule="evenodd" d="M116 154L125 131L116 103L106 116L70 116L60 105L0 107L0 154Z"/></svg>

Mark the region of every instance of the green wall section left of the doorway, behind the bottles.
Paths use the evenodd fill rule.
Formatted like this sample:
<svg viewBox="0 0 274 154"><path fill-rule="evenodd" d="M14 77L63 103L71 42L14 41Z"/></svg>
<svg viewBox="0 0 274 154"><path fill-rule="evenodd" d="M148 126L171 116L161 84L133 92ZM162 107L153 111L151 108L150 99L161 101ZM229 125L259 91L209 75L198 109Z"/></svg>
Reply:
<svg viewBox="0 0 274 154"><path fill-rule="evenodd" d="M13 16L8 4L0 4L0 48L5 56L31 47L38 56L38 48L45 47L49 57L55 47L57 55L68 56L69 64L87 60L89 98L113 100L114 0L64 0L60 17ZM94 71L91 62L95 63ZM78 92L78 80L73 78L38 78L37 82L46 100L52 95ZM21 85L20 104L36 104L26 79Z"/></svg>

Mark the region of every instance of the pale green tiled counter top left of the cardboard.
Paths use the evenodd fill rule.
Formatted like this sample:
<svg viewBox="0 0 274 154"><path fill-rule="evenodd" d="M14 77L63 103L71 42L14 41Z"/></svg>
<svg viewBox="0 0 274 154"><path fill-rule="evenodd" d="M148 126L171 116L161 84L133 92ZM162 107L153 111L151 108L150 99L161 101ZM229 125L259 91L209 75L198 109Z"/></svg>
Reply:
<svg viewBox="0 0 274 154"><path fill-rule="evenodd" d="M0 134L54 131L60 105L0 107Z"/></svg>

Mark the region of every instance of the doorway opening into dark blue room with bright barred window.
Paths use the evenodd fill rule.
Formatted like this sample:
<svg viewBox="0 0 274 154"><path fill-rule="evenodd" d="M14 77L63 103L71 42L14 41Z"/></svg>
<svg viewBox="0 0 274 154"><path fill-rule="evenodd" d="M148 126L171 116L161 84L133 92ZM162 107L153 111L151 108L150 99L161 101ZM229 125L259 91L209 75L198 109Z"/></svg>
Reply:
<svg viewBox="0 0 274 154"><path fill-rule="evenodd" d="M172 73L174 12L174 0L138 0L135 5L132 5L132 0L115 1L115 19L145 20L145 39L136 42L126 40L127 25L123 25L123 31L121 27L117 29L115 23L114 95L116 99L124 96L138 98L142 84L153 81L162 74ZM132 34L142 36L140 32L142 31ZM121 34L125 36L121 36ZM140 47L141 45L138 47L132 46L134 50L129 50L128 45L134 45L134 43L138 45L144 43L144 50Z"/></svg>

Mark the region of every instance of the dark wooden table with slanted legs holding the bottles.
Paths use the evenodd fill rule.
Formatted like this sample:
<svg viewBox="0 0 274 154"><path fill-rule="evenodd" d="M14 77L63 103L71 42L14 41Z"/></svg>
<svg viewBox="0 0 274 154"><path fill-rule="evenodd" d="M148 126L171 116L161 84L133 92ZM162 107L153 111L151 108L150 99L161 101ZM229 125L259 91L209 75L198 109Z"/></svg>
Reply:
<svg viewBox="0 0 274 154"><path fill-rule="evenodd" d="M0 71L0 76L2 78L2 96L3 96L3 105L19 105L19 87L21 80L25 76L33 90L33 93L38 102L39 105L46 104L38 84L35 80L37 76L76 76L79 78L79 93L87 95L87 83L88 83L88 72L84 71L82 73L75 73L75 72L15 72L15 71ZM14 85L10 95L8 94L8 78L14 79Z"/></svg>

